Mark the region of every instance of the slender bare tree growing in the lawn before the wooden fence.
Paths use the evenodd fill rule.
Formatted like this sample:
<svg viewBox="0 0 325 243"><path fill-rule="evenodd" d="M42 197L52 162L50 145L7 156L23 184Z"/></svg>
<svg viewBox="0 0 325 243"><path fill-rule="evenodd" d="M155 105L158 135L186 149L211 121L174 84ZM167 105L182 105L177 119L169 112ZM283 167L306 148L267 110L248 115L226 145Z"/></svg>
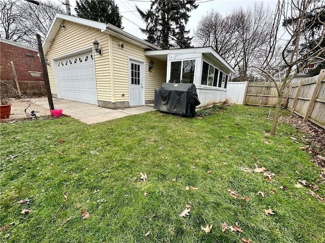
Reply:
<svg viewBox="0 0 325 243"><path fill-rule="evenodd" d="M264 53L264 59L260 65L256 66L262 75L274 82L278 92L271 129L272 135L276 132L285 87L313 61L316 59L324 60L321 55L325 52L325 48L322 46L325 22L321 21L319 15L317 16L322 6L324 6L323 0L279 0L277 3L270 42L266 49L260 49L261 53L262 51ZM307 19L311 13L315 14L316 17L310 22ZM283 23L282 25L288 35L287 41L284 42L279 38L281 23ZM312 39L310 39L309 33L312 33ZM312 41L313 46L300 52L310 41ZM285 73L281 78L282 70L285 70Z"/></svg>

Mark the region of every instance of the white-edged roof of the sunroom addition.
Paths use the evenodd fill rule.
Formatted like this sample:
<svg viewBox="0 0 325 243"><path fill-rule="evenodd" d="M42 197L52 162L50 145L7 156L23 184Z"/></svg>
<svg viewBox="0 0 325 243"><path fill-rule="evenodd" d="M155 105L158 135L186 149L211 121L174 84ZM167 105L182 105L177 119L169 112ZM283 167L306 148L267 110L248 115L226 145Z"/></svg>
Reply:
<svg viewBox="0 0 325 243"><path fill-rule="evenodd" d="M199 47L199 48L187 48L187 49L169 49L169 50L157 50L157 51L145 51L146 56L151 56L160 60L167 60L169 54L190 54L190 53L202 53L207 57L217 60L218 64L228 69L231 73L234 73L235 70L232 66L226 62L212 47Z"/></svg>

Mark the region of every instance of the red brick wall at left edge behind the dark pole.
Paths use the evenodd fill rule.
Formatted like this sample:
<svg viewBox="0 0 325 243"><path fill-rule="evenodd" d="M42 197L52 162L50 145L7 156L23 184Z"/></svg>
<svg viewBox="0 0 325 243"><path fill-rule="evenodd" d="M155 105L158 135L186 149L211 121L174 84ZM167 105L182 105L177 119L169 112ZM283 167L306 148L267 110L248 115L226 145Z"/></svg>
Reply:
<svg viewBox="0 0 325 243"><path fill-rule="evenodd" d="M37 56L38 52L29 50L31 48L28 47L22 48L19 47L21 45L15 46L15 44L11 45L5 42L10 43L7 40L0 42L0 79L17 89L10 63L13 61L21 93L27 96L45 95L43 76L32 77L28 72L42 72L40 58Z"/></svg>

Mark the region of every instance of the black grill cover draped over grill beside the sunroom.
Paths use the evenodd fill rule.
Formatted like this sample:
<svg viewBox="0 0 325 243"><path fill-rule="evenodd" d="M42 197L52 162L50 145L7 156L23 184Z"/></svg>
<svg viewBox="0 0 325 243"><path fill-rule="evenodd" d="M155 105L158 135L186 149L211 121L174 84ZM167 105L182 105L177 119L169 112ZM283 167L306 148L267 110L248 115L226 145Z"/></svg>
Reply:
<svg viewBox="0 0 325 243"><path fill-rule="evenodd" d="M154 108L163 112L194 117L200 104L194 84L164 83L154 93Z"/></svg>

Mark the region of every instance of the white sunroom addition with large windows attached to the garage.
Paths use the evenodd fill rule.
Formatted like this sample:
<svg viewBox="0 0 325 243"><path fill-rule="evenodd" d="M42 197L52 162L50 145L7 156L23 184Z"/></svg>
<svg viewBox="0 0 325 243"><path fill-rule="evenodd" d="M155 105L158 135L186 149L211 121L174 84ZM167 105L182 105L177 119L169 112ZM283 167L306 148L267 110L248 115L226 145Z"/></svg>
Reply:
<svg viewBox="0 0 325 243"><path fill-rule="evenodd" d="M212 48L146 51L145 55L167 61L166 83L195 84L200 106L225 101L234 69Z"/></svg>

